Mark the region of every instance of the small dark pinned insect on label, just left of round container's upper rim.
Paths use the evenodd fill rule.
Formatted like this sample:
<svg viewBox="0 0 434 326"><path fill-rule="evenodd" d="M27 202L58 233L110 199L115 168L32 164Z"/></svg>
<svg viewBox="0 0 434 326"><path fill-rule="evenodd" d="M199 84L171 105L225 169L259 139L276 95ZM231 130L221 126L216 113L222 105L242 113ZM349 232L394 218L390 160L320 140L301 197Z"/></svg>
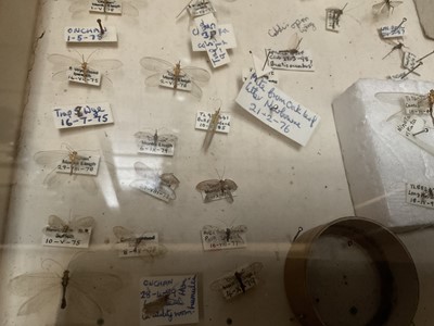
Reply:
<svg viewBox="0 0 434 326"><path fill-rule="evenodd" d="M246 233L247 227L245 225L237 225L226 228L214 225L205 225L202 228L202 234L204 236L203 239L217 249L227 247L227 244L230 243L234 243L237 247L244 244Z"/></svg>

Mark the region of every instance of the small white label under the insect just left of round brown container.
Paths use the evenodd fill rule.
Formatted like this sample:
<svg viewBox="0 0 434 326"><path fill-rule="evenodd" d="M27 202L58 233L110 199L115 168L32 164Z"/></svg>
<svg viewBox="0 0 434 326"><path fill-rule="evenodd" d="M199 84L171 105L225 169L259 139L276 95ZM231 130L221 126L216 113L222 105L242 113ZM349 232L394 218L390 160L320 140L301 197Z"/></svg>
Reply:
<svg viewBox="0 0 434 326"><path fill-rule="evenodd" d="M224 229L208 225L201 230L201 235L205 251L245 248L247 246L245 230L240 230L237 227Z"/></svg>

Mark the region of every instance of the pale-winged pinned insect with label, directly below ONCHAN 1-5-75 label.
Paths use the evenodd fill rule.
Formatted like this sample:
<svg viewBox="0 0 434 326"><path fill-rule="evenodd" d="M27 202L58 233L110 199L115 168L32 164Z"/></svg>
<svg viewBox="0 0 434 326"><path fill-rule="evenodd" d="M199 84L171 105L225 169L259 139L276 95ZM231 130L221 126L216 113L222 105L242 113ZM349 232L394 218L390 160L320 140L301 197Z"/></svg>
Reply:
<svg viewBox="0 0 434 326"><path fill-rule="evenodd" d="M54 70L56 71L53 74L53 79L67 79L72 83L100 86L103 74L112 70L117 70L123 64L119 60L114 59L90 60L97 51L98 50L91 52L86 59L85 55L78 51L75 51L77 58L64 54L50 54L48 60L54 64ZM105 79L112 83L107 76L105 76L104 80Z"/></svg>

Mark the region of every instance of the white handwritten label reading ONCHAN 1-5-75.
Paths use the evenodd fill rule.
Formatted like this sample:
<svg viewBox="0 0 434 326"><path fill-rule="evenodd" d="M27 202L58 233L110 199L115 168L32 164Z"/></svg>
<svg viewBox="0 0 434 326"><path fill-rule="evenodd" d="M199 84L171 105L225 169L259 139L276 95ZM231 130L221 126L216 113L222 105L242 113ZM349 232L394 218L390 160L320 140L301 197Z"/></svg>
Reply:
<svg viewBox="0 0 434 326"><path fill-rule="evenodd" d="M114 26L103 27L101 34L99 27L65 27L66 42L117 42L117 32Z"/></svg>

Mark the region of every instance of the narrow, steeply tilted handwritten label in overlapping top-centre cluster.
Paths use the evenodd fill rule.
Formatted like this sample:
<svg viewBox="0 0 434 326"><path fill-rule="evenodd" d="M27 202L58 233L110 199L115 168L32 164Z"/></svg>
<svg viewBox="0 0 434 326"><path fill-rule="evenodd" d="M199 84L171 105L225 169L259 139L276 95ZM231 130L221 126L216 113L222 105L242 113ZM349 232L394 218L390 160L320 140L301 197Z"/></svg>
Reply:
<svg viewBox="0 0 434 326"><path fill-rule="evenodd" d="M199 34L203 39L206 52L213 67L218 67L230 62L229 54L224 48L220 36L217 30L217 21L213 14L206 14L194 18Z"/></svg>

